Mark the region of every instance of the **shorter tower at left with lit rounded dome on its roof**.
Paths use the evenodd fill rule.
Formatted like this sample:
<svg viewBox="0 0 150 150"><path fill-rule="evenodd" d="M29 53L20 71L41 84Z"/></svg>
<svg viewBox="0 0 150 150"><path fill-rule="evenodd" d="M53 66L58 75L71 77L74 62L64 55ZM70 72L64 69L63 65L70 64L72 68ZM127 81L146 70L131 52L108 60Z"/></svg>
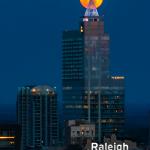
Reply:
<svg viewBox="0 0 150 150"><path fill-rule="evenodd" d="M57 94L49 86L18 89L17 119L21 126L21 150L50 147L58 142Z"/></svg>

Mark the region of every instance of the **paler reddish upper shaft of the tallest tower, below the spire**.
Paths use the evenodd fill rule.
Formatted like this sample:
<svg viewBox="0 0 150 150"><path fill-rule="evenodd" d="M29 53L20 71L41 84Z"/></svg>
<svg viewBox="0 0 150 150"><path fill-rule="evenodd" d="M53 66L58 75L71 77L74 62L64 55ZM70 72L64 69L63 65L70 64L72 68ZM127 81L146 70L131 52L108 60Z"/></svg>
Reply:
<svg viewBox="0 0 150 150"><path fill-rule="evenodd" d="M85 90L99 90L109 75L109 36L100 17L83 21ZM90 89L89 89L90 88Z"/></svg>

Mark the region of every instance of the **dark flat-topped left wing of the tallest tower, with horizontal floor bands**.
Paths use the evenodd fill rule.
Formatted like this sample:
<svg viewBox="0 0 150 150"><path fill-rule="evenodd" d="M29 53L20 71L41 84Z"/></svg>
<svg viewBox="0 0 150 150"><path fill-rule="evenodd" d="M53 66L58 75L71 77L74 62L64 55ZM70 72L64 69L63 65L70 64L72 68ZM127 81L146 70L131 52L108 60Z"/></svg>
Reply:
<svg viewBox="0 0 150 150"><path fill-rule="evenodd" d="M80 31L63 33L63 106L65 120L79 119L84 91L84 45Z"/></svg>

